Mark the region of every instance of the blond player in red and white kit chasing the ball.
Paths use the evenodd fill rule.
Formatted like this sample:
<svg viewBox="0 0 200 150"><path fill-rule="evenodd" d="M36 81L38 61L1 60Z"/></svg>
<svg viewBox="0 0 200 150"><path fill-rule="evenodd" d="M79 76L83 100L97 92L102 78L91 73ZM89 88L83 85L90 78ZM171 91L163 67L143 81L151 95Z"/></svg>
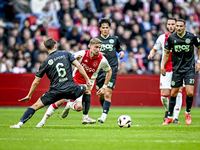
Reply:
<svg viewBox="0 0 200 150"><path fill-rule="evenodd" d="M108 82L110 81L112 75L112 69L108 64L107 59L99 53L101 48L102 41L98 38L92 38L90 40L90 49L89 50L81 50L74 54L74 57L79 61L79 63L84 68L86 74L88 75L90 82L92 84L92 88L94 86L94 82L97 78L97 74L100 69L103 69L107 72L106 80L104 85L98 92L97 95L104 94L105 89L107 87ZM73 71L73 79L76 84L86 84L85 79L81 76L80 72L75 68ZM92 90L91 88L91 90ZM81 111L83 109L83 117L82 124L92 124L96 123L96 120L90 118L88 116L88 112L90 109L90 99L91 99L91 90L87 89L83 96L80 96L75 101L62 99L57 101L56 103L49 106L42 120L37 124L36 127L43 127L46 120L55 112L55 110L60 107L65 101L67 101L67 105L63 110L62 118L65 118L69 110Z"/></svg>

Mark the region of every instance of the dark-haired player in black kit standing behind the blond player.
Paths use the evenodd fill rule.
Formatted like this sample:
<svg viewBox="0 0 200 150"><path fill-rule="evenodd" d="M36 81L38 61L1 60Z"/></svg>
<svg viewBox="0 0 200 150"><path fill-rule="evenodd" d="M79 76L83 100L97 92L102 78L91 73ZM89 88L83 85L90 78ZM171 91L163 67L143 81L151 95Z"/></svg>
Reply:
<svg viewBox="0 0 200 150"><path fill-rule="evenodd" d="M118 58L116 52L118 52L120 59L124 58L124 51L120 46L118 37L109 35L110 26L111 26L110 19L108 18L100 19L99 28L101 35L96 37L103 42L100 51L102 52L104 57L108 60L108 63L112 68L112 77L108 85L104 85L104 80L106 77L105 71L100 70L98 73L98 77L96 79L97 90L99 90L101 87L106 88L105 94L99 96L101 106L103 107L102 115L100 118L97 119L98 122L100 123L105 122L111 105L112 91L115 87L117 71L118 71Z"/></svg>

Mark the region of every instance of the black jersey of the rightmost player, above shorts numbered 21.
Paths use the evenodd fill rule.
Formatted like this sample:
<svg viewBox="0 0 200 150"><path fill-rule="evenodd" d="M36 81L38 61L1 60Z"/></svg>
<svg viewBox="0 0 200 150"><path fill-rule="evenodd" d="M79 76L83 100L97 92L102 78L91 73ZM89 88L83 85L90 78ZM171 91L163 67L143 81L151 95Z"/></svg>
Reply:
<svg viewBox="0 0 200 150"><path fill-rule="evenodd" d="M165 49L172 50L173 72L185 73L195 67L194 45L200 46L199 38L190 32L180 37L177 33L169 36L165 44Z"/></svg>

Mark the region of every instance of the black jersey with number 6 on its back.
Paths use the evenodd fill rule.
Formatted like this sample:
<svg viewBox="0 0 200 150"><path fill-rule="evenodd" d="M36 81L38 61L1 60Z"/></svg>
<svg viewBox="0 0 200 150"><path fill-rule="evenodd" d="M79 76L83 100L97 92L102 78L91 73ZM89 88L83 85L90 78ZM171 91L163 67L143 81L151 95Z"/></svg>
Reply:
<svg viewBox="0 0 200 150"><path fill-rule="evenodd" d="M74 56L69 52L54 51L42 62L35 76L37 78L42 78L46 73L51 81L51 90L71 91L71 88L76 86L72 77L71 68L71 64L74 60Z"/></svg>

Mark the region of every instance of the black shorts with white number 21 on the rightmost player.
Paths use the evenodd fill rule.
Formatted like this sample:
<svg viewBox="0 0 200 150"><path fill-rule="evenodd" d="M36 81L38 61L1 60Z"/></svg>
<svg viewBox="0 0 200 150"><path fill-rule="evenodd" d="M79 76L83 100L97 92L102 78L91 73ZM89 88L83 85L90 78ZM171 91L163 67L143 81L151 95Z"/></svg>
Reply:
<svg viewBox="0 0 200 150"><path fill-rule="evenodd" d="M177 88L183 85L183 80L185 85L194 85L195 84L195 68L191 68L185 73L176 73L172 74L171 87Z"/></svg>

